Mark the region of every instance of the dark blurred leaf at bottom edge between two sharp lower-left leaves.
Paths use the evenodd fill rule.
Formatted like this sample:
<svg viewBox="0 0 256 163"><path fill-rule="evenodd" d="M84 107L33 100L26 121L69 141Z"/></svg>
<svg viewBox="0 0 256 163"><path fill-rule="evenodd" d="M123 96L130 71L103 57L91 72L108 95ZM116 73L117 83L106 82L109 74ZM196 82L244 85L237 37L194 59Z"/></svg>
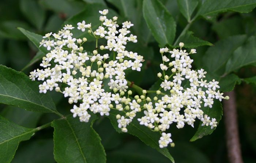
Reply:
<svg viewBox="0 0 256 163"><path fill-rule="evenodd" d="M55 163L53 140L39 139L21 143L12 163Z"/></svg>

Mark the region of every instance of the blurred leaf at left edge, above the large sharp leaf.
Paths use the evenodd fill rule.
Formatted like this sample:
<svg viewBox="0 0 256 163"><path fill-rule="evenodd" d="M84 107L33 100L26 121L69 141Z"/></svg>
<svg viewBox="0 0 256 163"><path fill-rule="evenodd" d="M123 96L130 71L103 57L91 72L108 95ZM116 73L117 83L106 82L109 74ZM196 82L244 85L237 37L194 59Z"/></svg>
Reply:
<svg viewBox="0 0 256 163"><path fill-rule="evenodd" d="M29 29L29 25L25 22L21 22L18 20L10 20L1 22L0 24L0 37L8 38L8 39L22 39L25 40L26 37L17 30L17 27L22 27Z"/></svg>

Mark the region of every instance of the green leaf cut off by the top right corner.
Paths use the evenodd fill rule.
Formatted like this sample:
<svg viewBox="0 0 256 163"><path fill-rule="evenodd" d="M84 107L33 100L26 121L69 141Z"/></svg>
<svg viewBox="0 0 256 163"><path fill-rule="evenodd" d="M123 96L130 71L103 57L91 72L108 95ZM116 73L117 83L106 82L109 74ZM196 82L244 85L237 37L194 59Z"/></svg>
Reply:
<svg viewBox="0 0 256 163"><path fill-rule="evenodd" d="M197 16L206 19L214 18L220 12L251 12L256 7L256 0L206 0L200 7Z"/></svg>

